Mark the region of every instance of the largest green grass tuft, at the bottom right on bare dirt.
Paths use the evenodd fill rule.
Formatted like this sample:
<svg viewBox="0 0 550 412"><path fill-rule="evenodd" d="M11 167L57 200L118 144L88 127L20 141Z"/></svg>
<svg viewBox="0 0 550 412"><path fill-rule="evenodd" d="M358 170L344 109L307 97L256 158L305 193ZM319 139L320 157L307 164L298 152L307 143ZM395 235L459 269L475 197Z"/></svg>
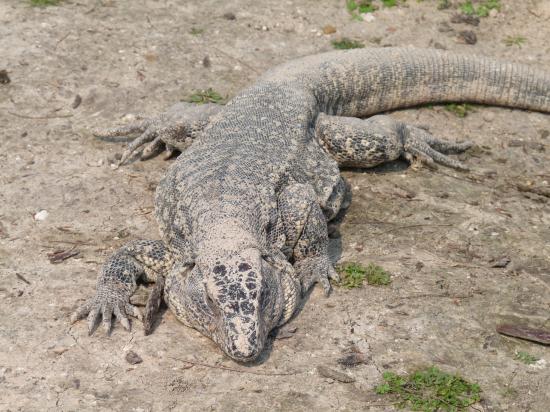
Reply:
<svg viewBox="0 0 550 412"><path fill-rule="evenodd" d="M375 387L379 395L392 394L397 405L413 411L458 411L480 400L481 389L458 375L440 371L435 366L400 376L385 372L384 383Z"/></svg>

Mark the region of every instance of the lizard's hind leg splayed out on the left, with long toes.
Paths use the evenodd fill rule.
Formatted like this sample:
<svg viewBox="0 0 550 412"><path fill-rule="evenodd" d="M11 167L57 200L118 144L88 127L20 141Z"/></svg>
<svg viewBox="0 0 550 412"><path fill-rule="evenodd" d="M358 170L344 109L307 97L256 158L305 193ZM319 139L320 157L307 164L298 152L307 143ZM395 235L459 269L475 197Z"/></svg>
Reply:
<svg viewBox="0 0 550 412"><path fill-rule="evenodd" d="M210 122L210 118L221 110L216 104L177 103L157 117L141 119L129 125L95 129L94 136L103 139L126 137L138 134L129 144L118 164L126 162L142 146L147 145L141 159L157 154L166 147L166 158L174 150L183 151L189 147Z"/></svg>

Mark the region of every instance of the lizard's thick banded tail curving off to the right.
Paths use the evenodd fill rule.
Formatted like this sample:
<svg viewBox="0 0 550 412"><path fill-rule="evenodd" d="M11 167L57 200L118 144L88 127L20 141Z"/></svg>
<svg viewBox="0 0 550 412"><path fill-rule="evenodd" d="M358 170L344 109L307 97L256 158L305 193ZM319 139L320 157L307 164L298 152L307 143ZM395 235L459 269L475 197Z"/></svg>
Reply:
<svg viewBox="0 0 550 412"><path fill-rule="evenodd" d="M437 102L550 112L550 71L414 48L358 49L295 60L264 78L305 83L329 114L367 116Z"/></svg>

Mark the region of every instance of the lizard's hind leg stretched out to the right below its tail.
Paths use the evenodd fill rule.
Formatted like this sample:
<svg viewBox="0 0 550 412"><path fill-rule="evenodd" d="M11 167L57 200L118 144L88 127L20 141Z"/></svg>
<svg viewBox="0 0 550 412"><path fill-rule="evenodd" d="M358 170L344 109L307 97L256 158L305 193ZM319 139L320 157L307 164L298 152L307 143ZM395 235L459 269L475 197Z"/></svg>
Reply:
<svg viewBox="0 0 550 412"><path fill-rule="evenodd" d="M437 139L424 129L385 115L362 120L321 113L315 124L315 135L340 166L365 168L404 157L409 162L439 163L468 170L446 155L462 153L472 146L471 142Z"/></svg>

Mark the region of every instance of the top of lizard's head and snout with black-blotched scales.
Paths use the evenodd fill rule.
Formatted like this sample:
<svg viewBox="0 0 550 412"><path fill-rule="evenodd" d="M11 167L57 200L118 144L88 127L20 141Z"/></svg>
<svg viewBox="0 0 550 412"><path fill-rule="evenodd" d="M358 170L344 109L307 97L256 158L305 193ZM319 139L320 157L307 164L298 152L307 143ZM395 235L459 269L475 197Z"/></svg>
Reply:
<svg viewBox="0 0 550 412"><path fill-rule="evenodd" d="M255 360L281 317L276 270L253 248L202 266L212 339L236 361Z"/></svg>

